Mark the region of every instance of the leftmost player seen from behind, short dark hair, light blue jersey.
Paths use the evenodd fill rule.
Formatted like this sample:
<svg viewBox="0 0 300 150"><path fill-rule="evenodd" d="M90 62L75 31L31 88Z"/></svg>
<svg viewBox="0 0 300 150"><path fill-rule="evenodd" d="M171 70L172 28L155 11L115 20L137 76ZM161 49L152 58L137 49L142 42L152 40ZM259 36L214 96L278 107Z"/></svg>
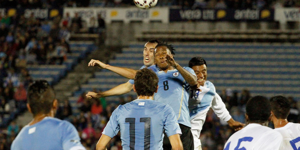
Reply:
<svg viewBox="0 0 300 150"><path fill-rule="evenodd" d="M12 150L85 150L76 128L70 122L54 118L58 102L46 80L29 85L27 108L33 114L33 120L14 139Z"/></svg>

